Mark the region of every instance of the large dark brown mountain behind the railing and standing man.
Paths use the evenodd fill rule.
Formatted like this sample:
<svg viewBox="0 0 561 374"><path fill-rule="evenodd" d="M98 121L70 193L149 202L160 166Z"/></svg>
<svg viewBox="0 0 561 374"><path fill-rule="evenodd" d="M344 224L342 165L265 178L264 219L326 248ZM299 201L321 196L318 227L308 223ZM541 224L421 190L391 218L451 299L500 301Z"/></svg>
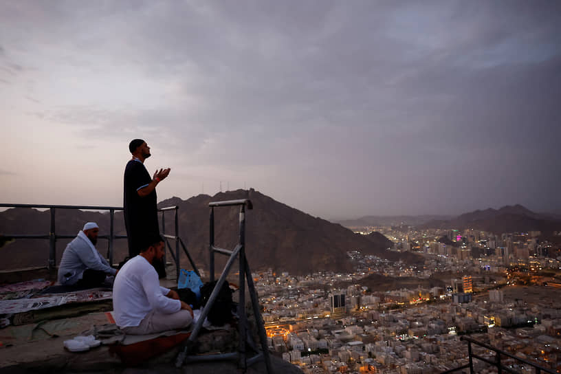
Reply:
<svg viewBox="0 0 561 374"><path fill-rule="evenodd" d="M312 217L255 190L220 192L213 197L198 195L187 200L173 197L160 202L158 206L179 206L179 236L186 242L197 265L208 269L208 203L245 198L251 199L254 206L253 210L246 210L246 254L252 270L272 267L274 270L293 274L308 274L317 270L349 271L349 250L360 250L365 254L375 254L396 261L422 261L415 254L386 250L391 241L382 234L379 234L382 237L375 238L356 235L342 225ZM215 245L234 248L238 240L239 207L214 208L214 212ZM49 214L48 211L33 209L0 212L0 234L47 234ZM85 221L97 221L101 234L109 232L108 214L76 210L57 210L56 232L74 235ZM165 232L173 234L173 228L173 212L166 212ZM122 212L115 213L115 234L126 234ZM57 241L58 259L68 241ZM98 249L105 254L107 241L100 240ZM0 268L45 265L48 259L48 241L20 239L8 243L1 251L4 261ZM126 240L115 241L114 261L120 261L125 254ZM219 264L225 262L224 256L217 254L216 258ZM186 259L182 258L181 263L188 267ZM219 273L221 269L217 265L215 272Z"/></svg>

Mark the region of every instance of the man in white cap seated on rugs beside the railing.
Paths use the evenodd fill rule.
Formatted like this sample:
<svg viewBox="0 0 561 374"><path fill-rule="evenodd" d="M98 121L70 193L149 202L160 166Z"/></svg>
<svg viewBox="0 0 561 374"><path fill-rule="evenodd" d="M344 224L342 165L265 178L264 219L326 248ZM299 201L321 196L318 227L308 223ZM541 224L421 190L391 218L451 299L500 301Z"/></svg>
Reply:
<svg viewBox="0 0 561 374"><path fill-rule="evenodd" d="M78 236L68 243L58 265L58 283L93 288L111 285L117 270L96 250L99 226L95 222L84 225Z"/></svg>

